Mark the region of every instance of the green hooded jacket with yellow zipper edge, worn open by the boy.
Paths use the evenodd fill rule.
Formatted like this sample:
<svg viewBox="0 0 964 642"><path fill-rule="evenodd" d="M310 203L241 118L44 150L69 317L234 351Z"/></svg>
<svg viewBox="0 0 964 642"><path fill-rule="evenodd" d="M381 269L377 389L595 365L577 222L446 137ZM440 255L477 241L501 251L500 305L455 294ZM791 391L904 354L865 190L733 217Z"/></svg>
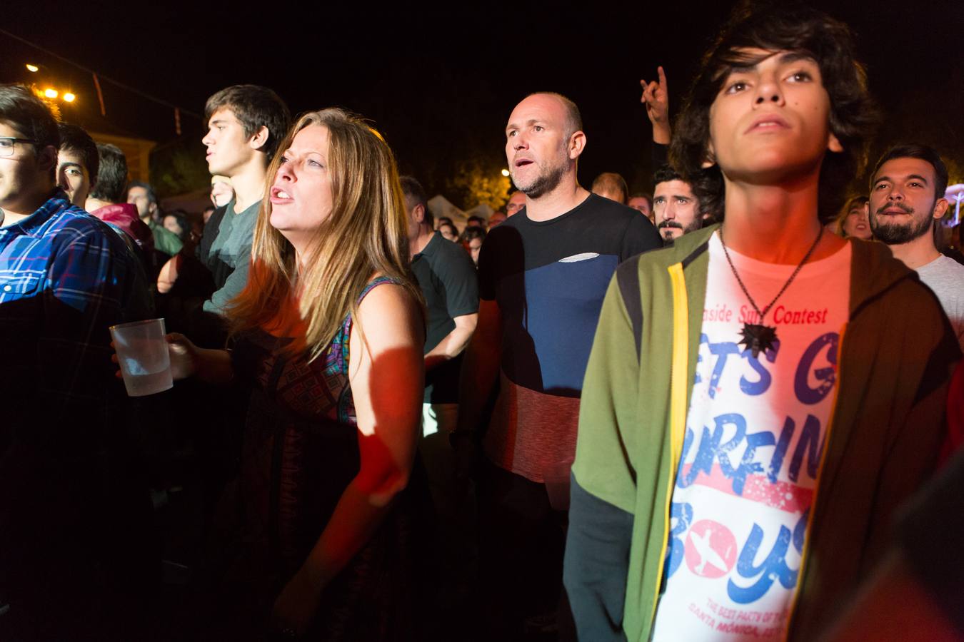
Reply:
<svg viewBox="0 0 964 642"><path fill-rule="evenodd" d="M706 298L710 235L620 266L586 369L564 580L579 639L648 640ZM934 468L960 350L937 298L884 244L850 241L849 318L790 611L813 640Z"/></svg>

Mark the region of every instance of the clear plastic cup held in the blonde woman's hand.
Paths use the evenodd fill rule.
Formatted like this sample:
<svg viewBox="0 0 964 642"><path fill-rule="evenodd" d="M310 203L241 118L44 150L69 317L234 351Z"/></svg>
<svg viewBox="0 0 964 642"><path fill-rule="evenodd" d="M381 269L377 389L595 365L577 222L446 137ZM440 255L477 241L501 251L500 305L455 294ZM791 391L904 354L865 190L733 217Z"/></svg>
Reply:
<svg viewBox="0 0 964 642"><path fill-rule="evenodd" d="M165 334L163 319L111 326L127 397L144 397L174 387Z"/></svg>

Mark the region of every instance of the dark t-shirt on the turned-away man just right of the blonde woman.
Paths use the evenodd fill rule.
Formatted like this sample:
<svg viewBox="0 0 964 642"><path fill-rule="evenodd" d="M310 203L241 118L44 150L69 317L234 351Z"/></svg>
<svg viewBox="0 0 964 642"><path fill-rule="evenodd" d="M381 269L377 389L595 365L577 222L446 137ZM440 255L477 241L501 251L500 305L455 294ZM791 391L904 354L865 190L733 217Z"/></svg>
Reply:
<svg viewBox="0 0 964 642"><path fill-rule="evenodd" d="M425 354L428 354L455 329L455 317L479 311L478 280L466 250L446 241L439 232L412 258L412 271L428 311L425 333ZM425 372L426 402L458 402L461 357Z"/></svg>

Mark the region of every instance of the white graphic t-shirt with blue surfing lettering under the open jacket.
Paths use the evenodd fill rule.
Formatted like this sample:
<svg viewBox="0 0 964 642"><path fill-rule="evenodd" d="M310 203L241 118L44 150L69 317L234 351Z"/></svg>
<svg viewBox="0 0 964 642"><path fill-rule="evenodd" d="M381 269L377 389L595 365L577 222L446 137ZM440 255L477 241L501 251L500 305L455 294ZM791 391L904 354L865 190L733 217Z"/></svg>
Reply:
<svg viewBox="0 0 964 642"><path fill-rule="evenodd" d="M696 380L670 505L663 594L653 640L779 640L796 590L807 518L847 320L850 244L809 263L766 313L774 347L740 345L758 315L719 235L710 267ZM763 309L796 266L730 250Z"/></svg>

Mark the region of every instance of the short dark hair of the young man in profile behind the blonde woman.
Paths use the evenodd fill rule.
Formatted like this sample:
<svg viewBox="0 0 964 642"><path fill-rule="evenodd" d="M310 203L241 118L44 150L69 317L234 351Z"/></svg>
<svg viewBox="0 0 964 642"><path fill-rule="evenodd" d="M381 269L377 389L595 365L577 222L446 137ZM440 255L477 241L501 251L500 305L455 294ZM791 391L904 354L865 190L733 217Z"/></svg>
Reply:
<svg viewBox="0 0 964 642"><path fill-rule="evenodd" d="M215 112L224 108L241 122L244 135L249 139L261 127L268 128L268 140L261 146L261 151L270 161L291 126L291 113L279 95L259 85L232 85L207 99L204 120L210 120Z"/></svg>

